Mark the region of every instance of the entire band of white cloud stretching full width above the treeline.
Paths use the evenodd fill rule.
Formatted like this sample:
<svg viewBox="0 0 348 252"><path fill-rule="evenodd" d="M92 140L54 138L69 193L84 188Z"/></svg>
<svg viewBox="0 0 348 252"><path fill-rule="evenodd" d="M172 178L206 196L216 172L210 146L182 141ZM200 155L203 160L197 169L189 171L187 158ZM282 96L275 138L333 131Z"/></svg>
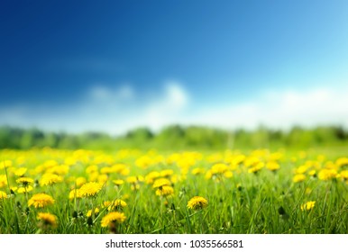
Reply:
<svg viewBox="0 0 348 252"><path fill-rule="evenodd" d="M124 133L147 126L160 130L172 123L207 125L224 129L253 129L259 125L287 129L293 125L348 126L348 89L316 87L307 90L265 91L244 103L196 107L184 85L168 81L155 94L140 92L132 85L110 88L98 84L85 99L64 107L23 104L0 108L0 124L72 132L104 130Z"/></svg>

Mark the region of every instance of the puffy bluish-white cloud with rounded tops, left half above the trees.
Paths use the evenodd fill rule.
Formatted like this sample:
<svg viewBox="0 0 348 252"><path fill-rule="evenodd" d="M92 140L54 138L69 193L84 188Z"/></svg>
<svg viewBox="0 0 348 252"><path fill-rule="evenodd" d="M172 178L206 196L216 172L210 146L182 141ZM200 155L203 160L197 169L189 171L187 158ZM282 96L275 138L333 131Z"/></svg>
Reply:
<svg viewBox="0 0 348 252"><path fill-rule="evenodd" d="M112 134L140 126L159 130L178 121L187 108L189 98L182 86L175 81L165 82L162 89L151 94L151 90L141 93L129 84L96 84L76 103L28 103L1 108L0 124L71 132L102 130Z"/></svg>

